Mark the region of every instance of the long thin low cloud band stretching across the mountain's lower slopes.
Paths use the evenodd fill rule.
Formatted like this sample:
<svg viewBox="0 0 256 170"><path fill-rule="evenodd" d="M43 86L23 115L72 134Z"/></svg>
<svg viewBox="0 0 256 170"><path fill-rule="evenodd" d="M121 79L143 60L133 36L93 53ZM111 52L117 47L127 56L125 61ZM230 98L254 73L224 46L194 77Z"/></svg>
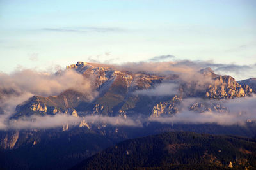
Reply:
<svg viewBox="0 0 256 170"><path fill-rule="evenodd" d="M189 111L189 104L194 103L196 99L188 99L182 104L182 111L168 117L147 118L145 115L137 117L108 117L102 115L88 115L84 117L74 117L67 114L57 114L54 116L46 115L44 117L31 116L20 118L19 120L10 120L6 124L0 124L0 129L47 129L62 127L65 124L70 126L79 125L81 121L87 124L106 124L111 126L143 127L150 122L160 122L163 124L211 124L218 125L246 125L246 122L256 121L256 96L244 97L240 99L227 100L223 106L228 111L218 113L215 111L205 111L198 113ZM212 102L212 101L209 101Z"/></svg>

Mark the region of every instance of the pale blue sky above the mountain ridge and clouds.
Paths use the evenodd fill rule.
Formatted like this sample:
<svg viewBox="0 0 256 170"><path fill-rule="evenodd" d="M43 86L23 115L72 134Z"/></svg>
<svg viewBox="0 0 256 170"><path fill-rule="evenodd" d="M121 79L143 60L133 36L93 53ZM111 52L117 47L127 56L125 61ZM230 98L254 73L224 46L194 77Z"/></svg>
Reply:
<svg viewBox="0 0 256 170"><path fill-rule="evenodd" d="M0 0L0 72L163 55L253 65L255 8L253 0Z"/></svg>

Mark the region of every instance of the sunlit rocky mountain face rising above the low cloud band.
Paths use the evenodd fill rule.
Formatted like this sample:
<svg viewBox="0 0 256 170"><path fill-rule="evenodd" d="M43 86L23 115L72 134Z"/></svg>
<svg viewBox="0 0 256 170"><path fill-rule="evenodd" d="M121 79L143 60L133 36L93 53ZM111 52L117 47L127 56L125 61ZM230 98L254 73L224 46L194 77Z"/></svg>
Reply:
<svg viewBox="0 0 256 170"><path fill-rule="evenodd" d="M210 68L199 71L200 78L209 80L199 85L198 81L182 80L177 74L160 76L152 73L132 73L106 64L77 62L67 66L67 69L74 69L85 78L91 78L92 89L95 89L99 95L90 101L83 92L69 89L58 96L33 96L17 106L12 118L56 113L75 116L79 113L120 115L125 118L141 113L148 117L159 117L179 113L180 102L189 97L232 99L250 96L253 91L246 83L239 84L231 76L217 75ZM58 71L56 74L62 73L63 71ZM167 92L164 96L147 95L150 92L147 90L157 89L166 83L177 84L177 90L170 94ZM141 91L145 93L138 93Z"/></svg>

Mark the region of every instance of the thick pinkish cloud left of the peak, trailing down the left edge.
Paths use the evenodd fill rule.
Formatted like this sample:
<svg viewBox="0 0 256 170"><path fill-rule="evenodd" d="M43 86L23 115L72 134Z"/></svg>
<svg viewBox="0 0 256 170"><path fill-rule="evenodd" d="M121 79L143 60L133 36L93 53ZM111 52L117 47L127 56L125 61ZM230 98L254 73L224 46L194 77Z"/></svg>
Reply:
<svg viewBox="0 0 256 170"><path fill-rule="evenodd" d="M58 74L33 71L30 69L16 71L12 74L0 73L0 128L5 126L8 118L15 113L18 104L34 95L55 96L67 89L86 94L92 101L98 94L93 89L94 78L84 78L82 74L66 69Z"/></svg>

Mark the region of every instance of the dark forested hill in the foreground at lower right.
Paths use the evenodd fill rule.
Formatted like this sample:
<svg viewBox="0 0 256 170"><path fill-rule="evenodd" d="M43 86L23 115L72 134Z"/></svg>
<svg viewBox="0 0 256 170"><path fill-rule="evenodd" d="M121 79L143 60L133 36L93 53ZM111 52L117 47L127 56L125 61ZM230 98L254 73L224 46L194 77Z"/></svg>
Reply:
<svg viewBox="0 0 256 170"><path fill-rule="evenodd" d="M255 169L256 141L172 132L111 146L72 169Z"/></svg>

